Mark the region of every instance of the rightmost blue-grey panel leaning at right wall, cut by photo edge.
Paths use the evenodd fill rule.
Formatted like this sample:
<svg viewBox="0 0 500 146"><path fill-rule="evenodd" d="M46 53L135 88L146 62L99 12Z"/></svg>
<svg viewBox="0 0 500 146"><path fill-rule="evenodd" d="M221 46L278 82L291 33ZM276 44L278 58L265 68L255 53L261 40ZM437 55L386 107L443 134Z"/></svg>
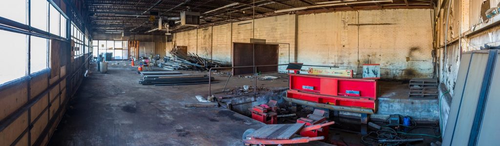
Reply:
<svg viewBox="0 0 500 146"><path fill-rule="evenodd" d="M484 114L482 119L482 124L479 129L479 137L477 138L477 146L496 146L498 145L498 135L495 135L500 131L500 126L498 126L498 121L500 121L500 116L498 116L498 111L500 111L500 54L496 56L496 63L494 65L494 71L491 75L491 84L489 86L489 91L487 94L487 100L484 107Z"/></svg>

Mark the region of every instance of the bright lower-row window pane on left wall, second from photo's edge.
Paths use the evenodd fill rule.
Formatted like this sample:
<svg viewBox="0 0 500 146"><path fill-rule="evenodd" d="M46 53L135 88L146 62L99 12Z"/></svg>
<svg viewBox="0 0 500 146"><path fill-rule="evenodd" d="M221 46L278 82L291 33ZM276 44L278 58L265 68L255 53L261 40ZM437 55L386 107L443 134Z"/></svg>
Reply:
<svg viewBox="0 0 500 146"><path fill-rule="evenodd" d="M38 71L44 70L47 68L47 59L48 59L48 45L47 39L39 38L35 36L31 36L30 41L30 67L29 70L31 73L36 73Z"/></svg>

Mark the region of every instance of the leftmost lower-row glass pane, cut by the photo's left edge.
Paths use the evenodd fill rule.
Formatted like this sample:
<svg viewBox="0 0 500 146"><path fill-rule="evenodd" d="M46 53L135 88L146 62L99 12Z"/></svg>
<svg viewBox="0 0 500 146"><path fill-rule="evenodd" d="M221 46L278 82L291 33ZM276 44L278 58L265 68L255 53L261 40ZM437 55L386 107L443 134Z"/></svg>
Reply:
<svg viewBox="0 0 500 146"><path fill-rule="evenodd" d="M26 75L26 35L0 30L0 44L0 52L8 54L2 60L12 64L8 70L0 70L0 84Z"/></svg>

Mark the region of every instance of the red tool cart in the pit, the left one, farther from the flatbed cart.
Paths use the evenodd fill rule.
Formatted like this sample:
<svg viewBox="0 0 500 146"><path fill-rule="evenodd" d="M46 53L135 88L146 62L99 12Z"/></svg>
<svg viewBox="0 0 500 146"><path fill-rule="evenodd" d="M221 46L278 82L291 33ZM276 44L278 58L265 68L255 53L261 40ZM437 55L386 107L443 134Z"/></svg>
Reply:
<svg viewBox="0 0 500 146"><path fill-rule="evenodd" d="M250 109L251 118L265 124L277 124L276 101L269 100L266 104L256 105Z"/></svg>

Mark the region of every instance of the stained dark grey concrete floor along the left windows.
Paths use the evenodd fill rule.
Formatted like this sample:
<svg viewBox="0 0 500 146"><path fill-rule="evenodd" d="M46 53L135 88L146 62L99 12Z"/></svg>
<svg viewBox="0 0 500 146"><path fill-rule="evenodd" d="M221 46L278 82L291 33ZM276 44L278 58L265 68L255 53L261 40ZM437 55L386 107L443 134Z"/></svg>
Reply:
<svg viewBox="0 0 500 146"><path fill-rule="evenodd" d="M94 71L84 79L48 146L242 146L246 129L264 126L224 108L184 108L182 102L207 95L207 84L140 85L136 68L117 63L110 63L108 73ZM220 83L212 89L219 91L227 77L215 79ZM258 83L272 88L283 81ZM228 87L245 84L252 79L233 77ZM309 145L330 146L301 146Z"/></svg>

